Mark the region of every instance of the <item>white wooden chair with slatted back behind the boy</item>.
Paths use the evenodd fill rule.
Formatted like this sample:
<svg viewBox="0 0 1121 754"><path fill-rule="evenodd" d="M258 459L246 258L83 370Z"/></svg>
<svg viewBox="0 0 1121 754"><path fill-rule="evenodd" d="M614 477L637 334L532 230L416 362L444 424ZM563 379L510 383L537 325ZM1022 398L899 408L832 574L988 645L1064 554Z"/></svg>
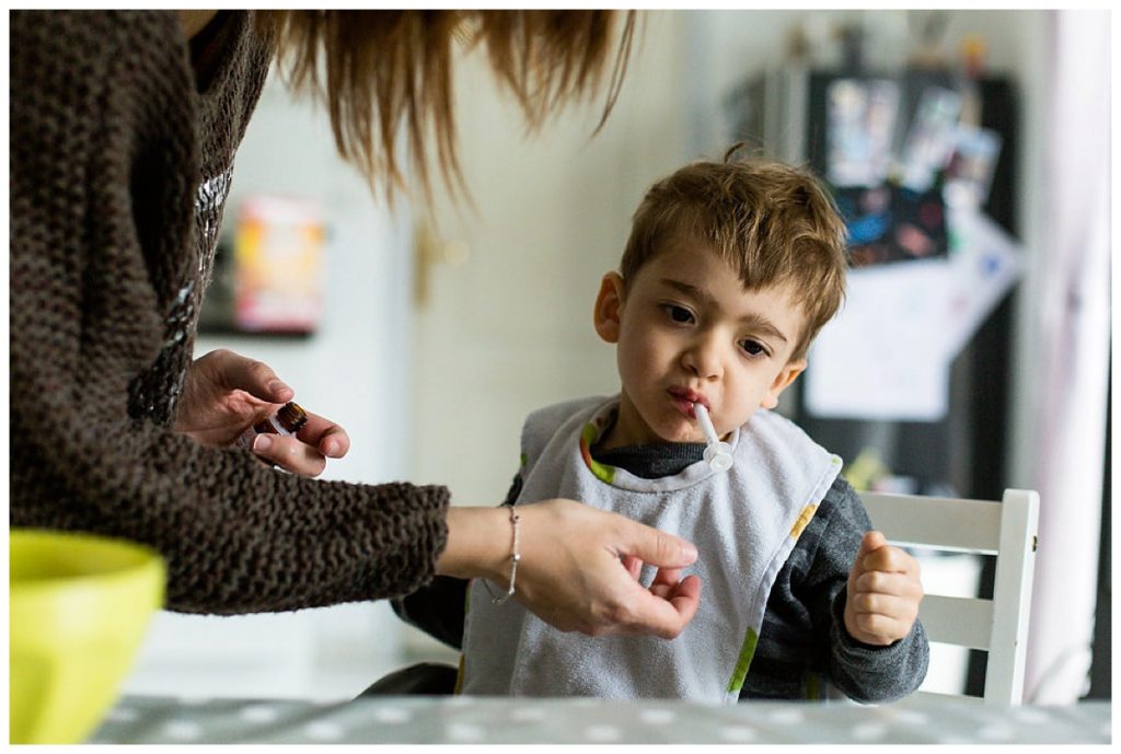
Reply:
<svg viewBox="0 0 1121 754"><path fill-rule="evenodd" d="M919 620L932 642L988 652L984 701L1019 705L1035 571L1039 494L1002 501L860 493L872 527L899 547L997 556L992 599L927 594Z"/></svg>

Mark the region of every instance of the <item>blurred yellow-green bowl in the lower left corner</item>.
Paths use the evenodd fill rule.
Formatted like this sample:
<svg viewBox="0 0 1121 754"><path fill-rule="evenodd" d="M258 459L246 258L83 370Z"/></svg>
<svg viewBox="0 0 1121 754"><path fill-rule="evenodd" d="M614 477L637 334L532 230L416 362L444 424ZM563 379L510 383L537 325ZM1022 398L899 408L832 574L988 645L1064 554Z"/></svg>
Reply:
<svg viewBox="0 0 1121 754"><path fill-rule="evenodd" d="M8 542L11 743L80 743L164 604L164 561L87 534L12 529Z"/></svg>

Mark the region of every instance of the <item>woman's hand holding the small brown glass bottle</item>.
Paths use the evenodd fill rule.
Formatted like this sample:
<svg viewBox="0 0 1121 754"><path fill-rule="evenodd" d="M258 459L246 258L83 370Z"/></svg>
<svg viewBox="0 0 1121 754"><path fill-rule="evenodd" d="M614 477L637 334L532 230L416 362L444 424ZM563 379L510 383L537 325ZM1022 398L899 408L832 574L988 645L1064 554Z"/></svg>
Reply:
<svg viewBox="0 0 1121 754"><path fill-rule="evenodd" d="M187 371L174 429L203 445L230 446L294 394L263 362L225 348L212 351ZM289 472L318 476L328 457L346 455L350 437L333 421L308 412L296 437L258 435L252 449Z"/></svg>

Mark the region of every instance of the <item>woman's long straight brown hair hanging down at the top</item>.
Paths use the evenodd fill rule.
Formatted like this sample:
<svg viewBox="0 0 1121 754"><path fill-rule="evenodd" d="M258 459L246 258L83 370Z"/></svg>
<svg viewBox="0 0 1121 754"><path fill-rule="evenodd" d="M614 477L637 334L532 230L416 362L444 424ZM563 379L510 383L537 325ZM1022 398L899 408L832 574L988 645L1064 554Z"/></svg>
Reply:
<svg viewBox="0 0 1121 754"><path fill-rule="evenodd" d="M620 16L622 31L596 131L619 96L634 11L258 11L259 22L275 35L289 85L326 103L339 153L390 198L405 187L397 152L402 128L425 195L430 196L434 164L453 194L465 193L453 108L456 45L485 45L495 77L536 129L564 103L600 89Z"/></svg>

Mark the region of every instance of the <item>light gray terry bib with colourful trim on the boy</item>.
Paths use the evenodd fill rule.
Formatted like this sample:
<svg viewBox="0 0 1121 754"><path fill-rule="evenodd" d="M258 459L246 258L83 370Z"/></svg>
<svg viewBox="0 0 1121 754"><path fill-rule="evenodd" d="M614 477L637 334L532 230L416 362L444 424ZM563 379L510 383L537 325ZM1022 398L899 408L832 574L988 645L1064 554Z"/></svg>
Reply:
<svg viewBox="0 0 1121 754"><path fill-rule="evenodd" d="M841 459L760 409L728 439L734 457L728 472L698 462L643 480L592 460L617 404L618 397L591 398L531 415L517 504L571 497L692 541L700 557L683 576L701 577L696 616L674 640L563 633L513 601L493 605L476 579L464 625L463 694L739 698L770 588ZM642 584L654 574L643 567Z"/></svg>

